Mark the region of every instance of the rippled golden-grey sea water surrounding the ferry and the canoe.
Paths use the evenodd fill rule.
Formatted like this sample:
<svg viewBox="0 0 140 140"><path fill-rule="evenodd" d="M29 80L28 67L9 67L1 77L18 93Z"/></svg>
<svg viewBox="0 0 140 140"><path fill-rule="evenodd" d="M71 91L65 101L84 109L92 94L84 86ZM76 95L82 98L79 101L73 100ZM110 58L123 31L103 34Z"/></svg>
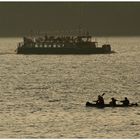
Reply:
<svg viewBox="0 0 140 140"><path fill-rule="evenodd" d="M140 107L85 107L140 103L140 37L109 38L107 55L17 55L19 41L0 39L0 138L140 138Z"/></svg>

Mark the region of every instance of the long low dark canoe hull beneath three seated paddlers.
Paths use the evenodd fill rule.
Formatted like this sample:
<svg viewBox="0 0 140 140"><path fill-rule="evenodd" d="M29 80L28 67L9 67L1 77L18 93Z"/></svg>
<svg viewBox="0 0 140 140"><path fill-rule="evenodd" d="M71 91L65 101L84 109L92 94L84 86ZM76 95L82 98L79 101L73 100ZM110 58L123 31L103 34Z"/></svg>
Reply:
<svg viewBox="0 0 140 140"><path fill-rule="evenodd" d="M115 106L112 106L110 104L97 105L95 103L86 102L86 107L96 107L96 108L104 108L104 107L134 107L134 106L138 106L138 103L131 103L128 106L125 106L123 104L116 104Z"/></svg>

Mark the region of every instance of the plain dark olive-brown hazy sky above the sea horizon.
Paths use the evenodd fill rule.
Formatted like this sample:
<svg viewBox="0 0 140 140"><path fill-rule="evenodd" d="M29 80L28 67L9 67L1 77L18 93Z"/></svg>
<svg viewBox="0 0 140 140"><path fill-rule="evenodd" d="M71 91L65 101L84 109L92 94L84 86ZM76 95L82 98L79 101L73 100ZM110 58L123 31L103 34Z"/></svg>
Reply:
<svg viewBox="0 0 140 140"><path fill-rule="evenodd" d="M140 35L140 2L0 2L0 36L78 29Z"/></svg>

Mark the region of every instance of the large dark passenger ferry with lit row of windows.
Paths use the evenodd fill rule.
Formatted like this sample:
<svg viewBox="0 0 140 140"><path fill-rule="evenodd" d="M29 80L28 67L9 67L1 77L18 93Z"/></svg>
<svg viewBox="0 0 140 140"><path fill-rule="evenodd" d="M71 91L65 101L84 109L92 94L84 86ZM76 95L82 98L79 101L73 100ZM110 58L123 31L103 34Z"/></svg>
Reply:
<svg viewBox="0 0 140 140"><path fill-rule="evenodd" d="M110 44L98 47L90 35L47 36L39 38L24 37L18 44L17 54L109 54Z"/></svg>

